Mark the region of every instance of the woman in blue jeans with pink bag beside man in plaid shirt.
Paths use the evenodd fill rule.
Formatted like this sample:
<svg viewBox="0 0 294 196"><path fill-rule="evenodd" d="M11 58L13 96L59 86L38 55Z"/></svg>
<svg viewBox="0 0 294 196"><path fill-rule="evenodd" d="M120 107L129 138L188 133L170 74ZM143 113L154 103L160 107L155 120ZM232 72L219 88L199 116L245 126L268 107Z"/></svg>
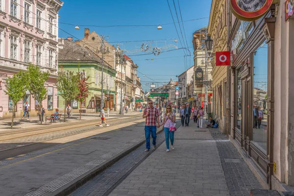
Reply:
<svg viewBox="0 0 294 196"><path fill-rule="evenodd" d="M165 138L166 138L167 152L169 152L170 151L170 139L171 139L172 149L174 149L174 147L173 147L174 131L170 131L170 125L172 125L172 123L175 122L175 114L172 112L171 105L167 106L163 119L164 119L164 121L163 121L163 123L160 124L160 126L164 124L163 130L164 130Z"/></svg>

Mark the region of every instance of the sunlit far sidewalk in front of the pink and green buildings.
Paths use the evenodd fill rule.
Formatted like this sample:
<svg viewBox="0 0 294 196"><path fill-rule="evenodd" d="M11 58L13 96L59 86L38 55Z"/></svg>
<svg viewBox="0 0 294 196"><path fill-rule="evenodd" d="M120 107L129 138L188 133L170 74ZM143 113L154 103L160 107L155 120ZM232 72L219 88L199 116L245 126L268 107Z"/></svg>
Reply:
<svg viewBox="0 0 294 196"><path fill-rule="evenodd" d="M130 111L128 113L124 113L124 115L120 115L119 111L116 112L109 112L109 117L107 118L107 113L106 115L106 120L107 119L115 119L115 118L124 118L124 117L130 117L130 116L134 116L134 115L143 115L142 112L132 112L130 113ZM47 114L45 115L47 116ZM44 116L44 118L45 118ZM49 115L48 115L49 116ZM49 123L47 121L47 123L45 123L45 119L44 122L42 123L42 125L40 124L39 121L39 117L32 117L29 119L29 121L25 120L21 120L19 118L14 119L14 125L13 125L13 129L21 129L21 128L35 128L35 127L40 127L40 126L55 126L55 125L60 125L63 124L64 120L64 114L62 114L61 117L61 123L56 122L56 123ZM95 113L95 114L82 114L81 120L79 120L79 114L74 113L73 116L70 116L70 118L66 117L66 124L69 125L71 123L76 123L76 122L89 122L89 121L100 121L100 113ZM1 131L7 131L7 130L11 130L10 129L10 124L11 124L11 119L5 119L5 120L0 120L0 132Z"/></svg>

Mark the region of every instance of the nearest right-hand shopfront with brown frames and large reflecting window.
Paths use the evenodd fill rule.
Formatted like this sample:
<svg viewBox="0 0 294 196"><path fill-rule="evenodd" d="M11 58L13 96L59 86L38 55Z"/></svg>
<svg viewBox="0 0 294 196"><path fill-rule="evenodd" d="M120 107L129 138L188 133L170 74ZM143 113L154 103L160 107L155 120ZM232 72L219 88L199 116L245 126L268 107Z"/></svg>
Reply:
<svg viewBox="0 0 294 196"><path fill-rule="evenodd" d="M262 185L280 191L294 186L294 17L289 10L288 0L274 1L252 22L228 12L230 140Z"/></svg>

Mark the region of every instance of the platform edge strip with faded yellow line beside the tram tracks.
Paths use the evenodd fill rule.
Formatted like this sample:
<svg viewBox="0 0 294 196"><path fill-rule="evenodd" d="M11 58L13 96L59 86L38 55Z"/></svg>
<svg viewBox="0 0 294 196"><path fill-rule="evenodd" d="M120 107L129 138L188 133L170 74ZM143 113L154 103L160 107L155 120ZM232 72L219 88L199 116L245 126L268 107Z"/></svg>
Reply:
<svg viewBox="0 0 294 196"><path fill-rule="evenodd" d="M129 122L128 122L129 123ZM106 128L106 127L105 127ZM116 130L116 129L115 129ZM113 131L113 130L111 130ZM100 134L100 133L99 133ZM85 143L85 142L88 142L89 140L92 139L92 137L94 136L98 136L99 134L97 135L93 135L93 136L90 136L90 137L86 137L86 138L82 138L82 139L78 139L78 140L75 140L75 141L72 141L72 142L68 142L68 143L65 143L65 144L60 144L60 145L56 145L56 146L53 146L53 147L49 147L49 148L44 148L44 149L40 149L40 150L37 150L37 151L33 151L33 152L30 152L30 153L27 153L26 156L30 157L28 159L26 159L25 156L21 156L21 157L11 157L10 159L6 159L6 161L3 161L3 162L0 162L0 169L3 169L3 168L6 168L6 167L10 167L12 165L15 165L15 164L18 164L18 163L22 163L22 162L25 162L25 161L28 161L28 160L32 160L32 159L35 159L35 158L38 158L38 157L41 157L41 156L44 156L44 155L47 155L47 154L50 154L52 152L56 152L56 151L59 151L59 150L62 150L62 149L66 149L68 147L73 147L73 146L76 146L76 145L79 145L79 144L82 144L82 143ZM81 142L80 142L81 141ZM71 145L73 144L73 145ZM64 146L64 147L63 147ZM55 149L57 148L57 149ZM50 149L55 149L55 150L51 150ZM45 151L45 153L42 153L42 151ZM47 151L47 152L46 152ZM39 153L42 153L42 154L39 154ZM34 155L35 154L35 155ZM23 159L23 160L22 160ZM9 163L9 160L13 160L13 163ZM20 161L18 161L20 160ZM7 163L7 164L6 164ZM3 165L3 166L1 166Z"/></svg>

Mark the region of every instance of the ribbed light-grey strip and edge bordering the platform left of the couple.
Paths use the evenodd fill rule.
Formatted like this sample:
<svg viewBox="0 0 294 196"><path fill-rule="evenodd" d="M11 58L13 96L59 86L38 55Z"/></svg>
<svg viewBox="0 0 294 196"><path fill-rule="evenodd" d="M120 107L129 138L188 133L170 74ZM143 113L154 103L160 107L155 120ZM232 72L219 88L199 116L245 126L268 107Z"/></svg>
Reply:
<svg viewBox="0 0 294 196"><path fill-rule="evenodd" d="M161 130L158 130L157 134L159 134L162 131L163 128ZM26 194L25 196L47 196L51 194L53 194L54 196L66 195L65 193L69 192L69 189L73 189L73 187L76 187L78 184L85 181L85 179L87 178L91 179L93 175L97 174L98 172L102 172L104 169L118 161L120 158L124 157L137 147L143 145L145 143L145 137L143 136L144 135L142 135L139 139L131 140L129 144L125 144L122 147L116 148L101 155L97 159L94 159L55 180L52 180L51 182L39 187L37 190L32 191ZM101 165L104 162L105 164ZM76 182L71 185L68 185L73 180L76 180ZM64 187L66 185L68 186ZM64 187L63 190L60 190L62 189L62 187Z"/></svg>

